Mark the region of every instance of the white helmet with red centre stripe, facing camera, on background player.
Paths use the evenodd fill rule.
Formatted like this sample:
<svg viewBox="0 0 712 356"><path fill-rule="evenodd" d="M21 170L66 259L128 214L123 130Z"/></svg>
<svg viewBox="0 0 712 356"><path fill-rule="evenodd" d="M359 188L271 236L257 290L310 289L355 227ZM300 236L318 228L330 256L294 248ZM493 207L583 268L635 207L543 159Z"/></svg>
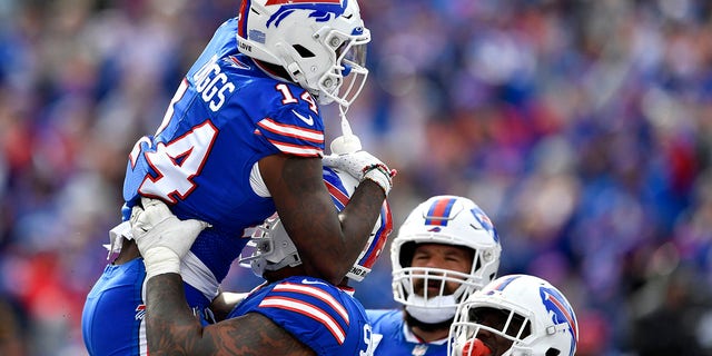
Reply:
<svg viewBox="0 0 712 356"><path fill-rule="evenodd" d="M472 249L469 273L443 268L412 267L418 244L443 244ZM455 316L457 305L474 290L496 277L502 247L497 231L487 215L471 199L458 196L435 196L418 205L408 215L390 245L393 296L408 314L427 324L446 322ZM439 281L437 295L415 291L414 280ZM446 281L459 283L447 295Z"/></svg>

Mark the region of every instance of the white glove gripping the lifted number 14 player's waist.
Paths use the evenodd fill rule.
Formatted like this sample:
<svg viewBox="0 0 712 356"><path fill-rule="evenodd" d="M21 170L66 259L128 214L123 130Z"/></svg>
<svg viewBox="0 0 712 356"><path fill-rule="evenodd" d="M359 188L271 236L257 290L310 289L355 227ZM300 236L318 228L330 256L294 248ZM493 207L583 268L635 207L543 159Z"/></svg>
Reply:
<svg viewBox="0 0 712 356"><path fill-rule="evenodd" d="M131 234L144 256L146 278L180 273L180 259L208 222L180 220L158 199L141 198L131 210Z"/></svg>

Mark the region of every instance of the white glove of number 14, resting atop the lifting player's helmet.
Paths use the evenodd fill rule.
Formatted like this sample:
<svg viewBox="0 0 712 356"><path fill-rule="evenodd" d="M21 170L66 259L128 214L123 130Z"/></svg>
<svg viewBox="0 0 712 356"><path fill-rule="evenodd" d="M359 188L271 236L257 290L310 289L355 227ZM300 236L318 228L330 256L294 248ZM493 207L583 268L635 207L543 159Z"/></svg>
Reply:
<svg viewBox="0 0 712 356"><path fill-rule="evenodd" d="M346 155L329 155L322 160L324 166L337 168L357 178L359 181L370 179L383 188L386 196L393 188L393 177L396 171L392 170L378 158L367 151L357 151Z"/></svg>

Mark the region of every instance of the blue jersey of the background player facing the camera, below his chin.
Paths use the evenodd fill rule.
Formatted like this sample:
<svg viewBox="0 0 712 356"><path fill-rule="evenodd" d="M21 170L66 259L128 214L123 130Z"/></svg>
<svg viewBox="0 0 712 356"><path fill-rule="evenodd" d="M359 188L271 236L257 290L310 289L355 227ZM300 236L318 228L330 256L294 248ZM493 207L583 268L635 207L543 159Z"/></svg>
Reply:
<svg viewBox="0 0 712 356"><path fill-rule="evenodd" d="M374 338L379 339L374 355L446 356L447 342L424 343L413 335L403 319L403 310L366 310Z"/></svg>

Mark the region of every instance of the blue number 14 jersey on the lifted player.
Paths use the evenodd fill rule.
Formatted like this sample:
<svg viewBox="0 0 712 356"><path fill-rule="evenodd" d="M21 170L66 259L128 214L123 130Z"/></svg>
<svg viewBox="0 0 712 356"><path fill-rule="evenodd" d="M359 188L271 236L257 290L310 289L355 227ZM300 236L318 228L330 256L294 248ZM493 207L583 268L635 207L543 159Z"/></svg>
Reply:
<svg viewBox="0 0 712 356"><path fill-rule="evenodd" d="M200 303L217 294L247 243L245 229L275 212L268 194L258 195L250 185L255 164L279 152L319 157L324 151L315 99L240 55L236 31L236 19L216 31L156 134L135 145L123 182L123 220L145 196L168 202L180 219L212 225L192 245L187 257L192 268L184 274L205 295ZM195 306L190 293L188 298Z"/></svg>

